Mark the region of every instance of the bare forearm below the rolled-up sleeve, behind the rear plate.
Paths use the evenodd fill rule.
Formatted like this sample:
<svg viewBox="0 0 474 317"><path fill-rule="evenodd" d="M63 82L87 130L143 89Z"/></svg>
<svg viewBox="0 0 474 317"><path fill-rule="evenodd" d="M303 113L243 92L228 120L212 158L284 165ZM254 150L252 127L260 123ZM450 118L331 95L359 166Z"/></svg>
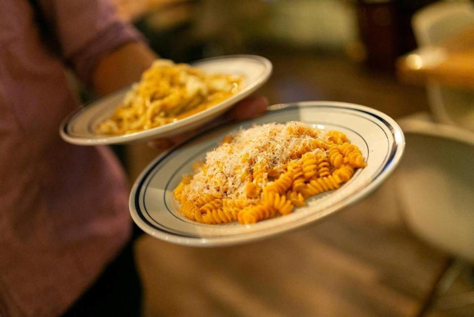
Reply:
<svg viewBox="0 0 474 317"><path fill-rule="evenodd" d="M140 79L158 56L145 44L131 42L105 55L95 67L93 86L98 95L107 94Z"/></svg>

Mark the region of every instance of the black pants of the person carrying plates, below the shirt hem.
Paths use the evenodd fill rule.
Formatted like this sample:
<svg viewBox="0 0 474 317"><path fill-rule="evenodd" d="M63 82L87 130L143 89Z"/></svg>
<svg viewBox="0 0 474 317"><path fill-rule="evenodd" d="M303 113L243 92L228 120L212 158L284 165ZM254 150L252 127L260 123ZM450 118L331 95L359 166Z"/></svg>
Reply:
<svg viewBox="0 0 474 317"><path fill-rule="evenodd" d="M134 227L134 238L141 232ZM139 317L142 285L135 266L134 238L63 317Z"/></svg>

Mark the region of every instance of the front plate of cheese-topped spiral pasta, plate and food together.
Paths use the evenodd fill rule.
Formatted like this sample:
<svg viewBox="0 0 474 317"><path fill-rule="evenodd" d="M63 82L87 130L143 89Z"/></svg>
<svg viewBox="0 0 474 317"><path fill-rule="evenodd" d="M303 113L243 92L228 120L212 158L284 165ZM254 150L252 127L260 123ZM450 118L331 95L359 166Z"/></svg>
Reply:
<svg viewBox="0 0 474 317"><path fill-rule="evenodd" d="M307 225L365 197L404 148L393 119L341 102L270 107L159 156L129 207L147 233L193 246L244 243Z"/></svg>

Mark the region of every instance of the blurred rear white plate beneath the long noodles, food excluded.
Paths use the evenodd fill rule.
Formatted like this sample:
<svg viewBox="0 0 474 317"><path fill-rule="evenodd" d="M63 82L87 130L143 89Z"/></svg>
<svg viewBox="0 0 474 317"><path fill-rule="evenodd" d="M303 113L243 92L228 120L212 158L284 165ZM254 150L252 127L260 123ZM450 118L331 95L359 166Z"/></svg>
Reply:
<svg viewBox="0 0 474 317"><path fill-rule="evenodd" d="M94 132L100 122L109 118L122 100L128 87L102 97L71 114L61 124L59 133L67 142L77 145L120 144L183 133L209 122L237 101L260 88L272 73L272 63L261 56L233 55L203 59L192 63L207 73L233 74L244 77L242 90L232 97L203 110L161 127L121 136L101 136Z"/></svg>

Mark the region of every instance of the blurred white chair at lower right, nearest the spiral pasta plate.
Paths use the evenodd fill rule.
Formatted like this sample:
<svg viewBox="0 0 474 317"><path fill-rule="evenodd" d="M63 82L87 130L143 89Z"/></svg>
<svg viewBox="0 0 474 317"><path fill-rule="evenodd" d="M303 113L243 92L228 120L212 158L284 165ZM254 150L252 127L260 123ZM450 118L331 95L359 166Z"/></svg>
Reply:
<svg viewBox="0 0 474 317"><path fill-rule="evenodd" d="M452 255L419 311L423 316L434 304L446 308L460 301L442 293L474 264L474 134L420 119L399 124L406 147L394 181L403 220L422 240ZM474 305L473 293L462 294L464 305Z"/></svg>

